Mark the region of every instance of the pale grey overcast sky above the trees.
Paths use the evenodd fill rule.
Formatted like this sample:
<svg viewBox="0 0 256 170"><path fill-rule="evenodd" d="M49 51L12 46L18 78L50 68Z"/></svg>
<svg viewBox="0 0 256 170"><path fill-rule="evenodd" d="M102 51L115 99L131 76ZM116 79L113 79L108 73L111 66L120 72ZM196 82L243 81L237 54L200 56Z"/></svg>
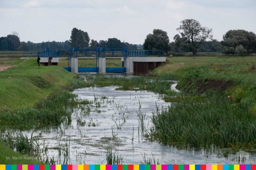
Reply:
<svg viewBox="0 0 256 170"><path fill-rule="evenodd" d="M143 44L153 29L170 42L183 19L212 28L218 41L229 30L256 33L256 0L0 0L0 37L13 31L34 43L70 39L73 28L90 39Z"/></svg>

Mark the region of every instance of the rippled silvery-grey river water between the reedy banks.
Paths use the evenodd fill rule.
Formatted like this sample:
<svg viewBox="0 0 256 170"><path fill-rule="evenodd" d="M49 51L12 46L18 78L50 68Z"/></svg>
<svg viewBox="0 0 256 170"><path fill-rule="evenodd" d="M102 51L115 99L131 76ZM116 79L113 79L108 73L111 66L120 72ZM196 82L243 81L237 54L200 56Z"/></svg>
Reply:
<svg viewBox="0 0 256 170"><path fill-rule="evenodd" d="M155 163L158 160L160 164L255 164L255 152L237 153L244 157L244 162L239 162L236 153L224 157L219 150L180 150L149 142L142 135L138 114L145 116L145 134L152 127L150 118L156 107L161 109L171 104L164 102L158 94L117 91L115 87L83 88L73 93L93 101L93 104L90 108L75 110L71 126L33 134L40 142L49 142L47 156L54 156L56 163L107 164L106 147L111 146L112 151L123 158L123 164L144 163L144 156L146 160L154 158ZM59 146L61 150L58 150ZM65 157L67 153L69 157Z"/></svg>

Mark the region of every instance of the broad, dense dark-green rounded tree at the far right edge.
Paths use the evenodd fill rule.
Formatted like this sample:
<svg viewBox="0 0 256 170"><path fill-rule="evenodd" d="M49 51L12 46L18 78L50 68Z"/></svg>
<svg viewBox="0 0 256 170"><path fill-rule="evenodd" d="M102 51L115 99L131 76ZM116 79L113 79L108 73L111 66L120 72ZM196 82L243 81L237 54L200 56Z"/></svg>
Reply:
<svg viewBox="0 0 256 170"><path fill-rule="evenodd" d="M251 54L256 51L256 35L253 32L245 30L229 30L223 35L222 43L225 47L236 48L242 45L247 51L247 54ZM224 50L224 54L225 50Z"/></svg>

